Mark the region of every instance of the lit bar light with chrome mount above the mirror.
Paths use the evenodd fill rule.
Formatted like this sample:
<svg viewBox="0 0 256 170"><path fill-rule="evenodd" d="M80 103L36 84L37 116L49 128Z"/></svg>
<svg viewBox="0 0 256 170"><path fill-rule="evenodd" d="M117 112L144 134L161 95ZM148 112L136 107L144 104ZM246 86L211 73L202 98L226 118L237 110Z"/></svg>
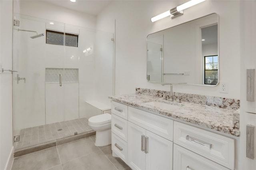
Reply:
<svg viewBox="0 0 256 170"><path fill-rule="evenodd" d="M184 9L187 9L191 6L199 4L200 2L203 2L203 1L205 1L205 0L190 0L190 1L184 3L180 6L172 8L171 10L168 10L168 11L162 13L162 14L159 14L158 16L155 16L155 17L151 18L151 22L155 22L155 21L160 20L162 18L165 18L167 16L171 16L171 18L173 19L177 16L182 15Z"/></svg>

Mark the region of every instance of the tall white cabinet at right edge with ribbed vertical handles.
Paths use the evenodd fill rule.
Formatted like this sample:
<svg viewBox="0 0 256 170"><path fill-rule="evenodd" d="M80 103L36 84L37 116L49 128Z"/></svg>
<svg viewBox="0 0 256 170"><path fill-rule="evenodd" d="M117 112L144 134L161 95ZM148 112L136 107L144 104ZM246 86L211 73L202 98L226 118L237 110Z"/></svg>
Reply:
<svg viewBox="0 0 256 170"><path fill-rule="evenodd" d="M256 127L256 114L246 113L250 108L256 108L256 102L246 101L246 69L256 69L256 2L241 1L241 107L240 107L240 143L239 143L239 170L255 170L256 167L256 137L254 137L254 160L246 158L246 125ZM256 78L256 77L255 77ZM255 85L254 85L255 90ZM254 92L254 99L256 93ZM254 133L256 136L256 132Z"/></svg>

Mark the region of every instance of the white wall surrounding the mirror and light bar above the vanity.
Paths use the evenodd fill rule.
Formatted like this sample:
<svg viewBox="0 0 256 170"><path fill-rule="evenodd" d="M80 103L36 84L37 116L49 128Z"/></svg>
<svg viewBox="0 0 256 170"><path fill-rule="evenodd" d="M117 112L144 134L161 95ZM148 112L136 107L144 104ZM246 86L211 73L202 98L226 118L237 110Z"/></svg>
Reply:
<svg viewBox="0 0 256 170"><path fill-rule="evenodd" d="M114 1L97 17L97 28L112 31L116 19L116 95L135 93L135 87L169 90L159 83L146 81L146 37L202 16L217 13L220 17L220 81L229 85L229 93L216 87L174 85L174 91L239 99L240 93L240 2L208 0L184 10L175 19L150 19L184 1ZM232 65L230 65L232 62ZM236 68L236 69L233 69Z"/></svg>

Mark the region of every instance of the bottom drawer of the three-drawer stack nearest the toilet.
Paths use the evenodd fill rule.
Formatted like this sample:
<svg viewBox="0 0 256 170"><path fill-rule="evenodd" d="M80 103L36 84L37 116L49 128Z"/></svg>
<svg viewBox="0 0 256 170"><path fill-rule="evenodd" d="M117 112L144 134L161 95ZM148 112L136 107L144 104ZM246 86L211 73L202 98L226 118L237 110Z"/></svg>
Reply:
<svg viewBox="0 0 256 170"><path fill-rule="evenodd" d="M113 156L121 158L127 164L127 143L112 133L112 152Z"/></svg>

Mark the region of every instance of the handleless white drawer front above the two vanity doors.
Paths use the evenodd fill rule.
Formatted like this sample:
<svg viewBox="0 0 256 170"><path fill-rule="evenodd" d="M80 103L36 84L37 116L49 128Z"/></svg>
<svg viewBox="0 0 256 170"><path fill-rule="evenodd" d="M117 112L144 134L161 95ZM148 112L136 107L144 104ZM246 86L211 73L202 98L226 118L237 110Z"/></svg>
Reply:
<svg viewBox="0 0 256 170"><path fill-rule="evenodd" d="M173 139L173 120L128 107L128 121L170 141Z"/></svg>

